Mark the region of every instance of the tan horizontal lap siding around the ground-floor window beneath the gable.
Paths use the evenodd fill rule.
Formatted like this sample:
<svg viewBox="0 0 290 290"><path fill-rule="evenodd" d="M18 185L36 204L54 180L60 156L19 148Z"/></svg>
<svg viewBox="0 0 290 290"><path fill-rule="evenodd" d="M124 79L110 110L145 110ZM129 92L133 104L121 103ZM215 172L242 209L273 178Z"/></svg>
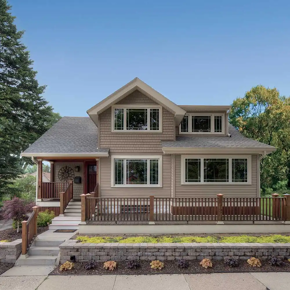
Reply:
<svg viewBox="0 0 290 290"><path fill-rule="evenodd" d="M137 155L136 155L137 156ZM171 162L170 155L162 156L162 187L111 187L111 157L100 158L101 197L170 197Z"/></svg>

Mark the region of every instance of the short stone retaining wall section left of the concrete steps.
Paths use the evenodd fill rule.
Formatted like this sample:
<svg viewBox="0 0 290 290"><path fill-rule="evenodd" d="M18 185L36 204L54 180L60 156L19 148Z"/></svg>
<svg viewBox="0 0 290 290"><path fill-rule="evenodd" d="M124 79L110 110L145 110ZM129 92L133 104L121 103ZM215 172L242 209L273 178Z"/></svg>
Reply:
<svg viewBox="0 0 290 290"><path fill-rule="evenodd" d="M0 242L0 262L15 263L21 254L22 240L13 242Z"/></svg>

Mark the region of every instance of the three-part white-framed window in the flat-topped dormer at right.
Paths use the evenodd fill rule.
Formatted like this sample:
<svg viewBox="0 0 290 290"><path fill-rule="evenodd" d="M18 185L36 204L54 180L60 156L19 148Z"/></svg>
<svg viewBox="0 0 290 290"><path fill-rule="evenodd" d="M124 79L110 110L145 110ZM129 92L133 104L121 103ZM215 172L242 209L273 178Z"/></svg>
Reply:
<svg viewBox="0 0 290 290"><path fill-rule="evenodd" d="M180 134L224 134L224 114L186 114L179 125Z"/></svg>

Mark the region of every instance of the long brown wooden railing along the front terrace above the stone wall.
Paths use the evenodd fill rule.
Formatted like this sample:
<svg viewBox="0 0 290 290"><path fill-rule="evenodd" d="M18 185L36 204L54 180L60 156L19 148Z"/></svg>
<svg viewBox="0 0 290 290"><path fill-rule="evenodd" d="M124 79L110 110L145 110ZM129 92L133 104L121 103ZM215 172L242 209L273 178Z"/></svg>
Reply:
<svg viewBox="0 0 290 290"><path fill-rule="evenodd" d="M81 221L290 221L290 195L278 197L101 198L81 195Z"/></svg>

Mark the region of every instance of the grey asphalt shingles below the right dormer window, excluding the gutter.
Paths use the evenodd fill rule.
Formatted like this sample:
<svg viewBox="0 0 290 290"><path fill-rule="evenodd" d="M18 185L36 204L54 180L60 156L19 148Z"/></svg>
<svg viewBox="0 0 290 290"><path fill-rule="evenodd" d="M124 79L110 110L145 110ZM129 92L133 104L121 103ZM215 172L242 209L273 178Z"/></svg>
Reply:
<svg viewBox="0 0 290 290"><path fill-rule="evenodd" d="M228 136L176 136L176 141L163 141L162 147L184 148L274 148L267 144L249 139L243 136L231 124L229 124Z"/></svg>

